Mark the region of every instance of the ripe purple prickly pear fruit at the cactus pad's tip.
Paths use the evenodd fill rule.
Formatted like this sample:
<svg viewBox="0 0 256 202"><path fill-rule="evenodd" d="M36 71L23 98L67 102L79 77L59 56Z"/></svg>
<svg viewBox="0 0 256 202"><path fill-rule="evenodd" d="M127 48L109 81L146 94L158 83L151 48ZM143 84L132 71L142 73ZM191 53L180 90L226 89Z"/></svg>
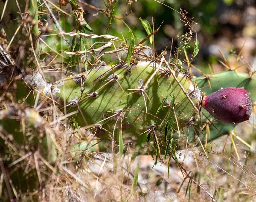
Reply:
<svg viewBox="0 0 256 202"><path fill-rule="evenodd" d="M202 106L221 122L235 124L250 119L252 100L243 88L223 88L205 96Z"/></svg>

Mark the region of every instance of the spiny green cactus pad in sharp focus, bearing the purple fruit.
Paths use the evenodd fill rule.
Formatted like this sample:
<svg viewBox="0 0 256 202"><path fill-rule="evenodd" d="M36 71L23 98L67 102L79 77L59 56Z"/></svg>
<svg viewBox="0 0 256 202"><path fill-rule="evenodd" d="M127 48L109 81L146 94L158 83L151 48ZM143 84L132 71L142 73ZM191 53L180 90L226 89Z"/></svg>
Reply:
<svg viewBox="0 0 256 202"><path fill-rule="evenodd" d="M201 102L199 89L186 75L149 62L102 66L53 86L66 101L67 113L78 111L80 126L102 139L116 139L121 130L138 143L167 128L179 131Z"/></svg>

